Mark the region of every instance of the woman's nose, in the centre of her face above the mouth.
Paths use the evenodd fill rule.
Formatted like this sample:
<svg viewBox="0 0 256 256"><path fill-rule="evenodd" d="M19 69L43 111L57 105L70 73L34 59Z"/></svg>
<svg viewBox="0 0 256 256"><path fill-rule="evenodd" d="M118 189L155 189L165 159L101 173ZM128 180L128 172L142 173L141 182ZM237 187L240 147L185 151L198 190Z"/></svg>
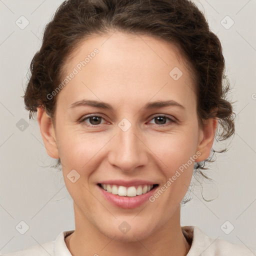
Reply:
<svg viewBox="0 0 256 256"><path fill-rule="evenodd" d="M117 126L116 131L108 155L110 164L124 172L133 172L145 166L148 161L147 147L141 132L138 132L135 125L126 131Z"/></svg>

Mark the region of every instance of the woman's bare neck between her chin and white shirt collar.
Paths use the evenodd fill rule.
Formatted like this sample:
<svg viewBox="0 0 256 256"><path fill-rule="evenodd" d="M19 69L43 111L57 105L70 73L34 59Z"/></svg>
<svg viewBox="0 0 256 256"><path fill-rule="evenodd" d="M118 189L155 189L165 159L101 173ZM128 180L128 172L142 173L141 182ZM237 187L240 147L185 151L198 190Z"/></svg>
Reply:
<svg viewBox="0 0 256 256"><path fill-rule="evenodd" d="M142 240L120 241L100 232L74 203L75 230L65 238L71 255L185 256L190 244L180 227L180 206L171 218Z"/></svg>

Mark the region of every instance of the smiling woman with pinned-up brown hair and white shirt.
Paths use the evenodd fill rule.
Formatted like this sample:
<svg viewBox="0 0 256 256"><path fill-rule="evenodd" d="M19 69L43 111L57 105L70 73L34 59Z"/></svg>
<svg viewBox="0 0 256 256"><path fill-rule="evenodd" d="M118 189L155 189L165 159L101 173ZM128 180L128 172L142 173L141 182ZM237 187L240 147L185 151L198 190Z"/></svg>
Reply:
<svg viewBox="0 0 256 256"><path fill-rule="evenodd" d="M75 229L6 255L256 253L180 226L217 126L234 133L221 45L193 3L64 1L30 69L26 109L61 164Z"/></svg>

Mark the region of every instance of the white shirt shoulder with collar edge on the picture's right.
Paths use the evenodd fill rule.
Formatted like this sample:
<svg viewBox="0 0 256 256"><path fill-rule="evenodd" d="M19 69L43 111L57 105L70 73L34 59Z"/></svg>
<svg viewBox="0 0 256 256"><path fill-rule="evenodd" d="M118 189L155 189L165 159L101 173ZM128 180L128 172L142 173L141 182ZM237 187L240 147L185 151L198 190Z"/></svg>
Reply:
<svg viewBox="0 0 256 256"><path fill-rule="evenodd" d="M256 255L254 248L243 244L235 244L224 239L210 238L197 226L183 226L184 236L191 241L187 256L253 256Z"/></svg>

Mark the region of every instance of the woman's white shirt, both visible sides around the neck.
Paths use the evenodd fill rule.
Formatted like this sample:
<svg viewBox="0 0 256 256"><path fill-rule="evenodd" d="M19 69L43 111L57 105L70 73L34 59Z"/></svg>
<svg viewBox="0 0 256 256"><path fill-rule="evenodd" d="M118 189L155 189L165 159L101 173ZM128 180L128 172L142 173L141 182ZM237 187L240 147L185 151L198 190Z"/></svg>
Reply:
<svg viewBox="0 0 256 256"><path fill-rule="evenodd" d="M205 235L197 226L181 226L186 239L192 240L187 256L253 256L256 250L243 244L234 244L223 239ZM54 241L30 246L24 250L2 254L2 256L72 256L64 238L74 230L62 231Z"/></svg>

